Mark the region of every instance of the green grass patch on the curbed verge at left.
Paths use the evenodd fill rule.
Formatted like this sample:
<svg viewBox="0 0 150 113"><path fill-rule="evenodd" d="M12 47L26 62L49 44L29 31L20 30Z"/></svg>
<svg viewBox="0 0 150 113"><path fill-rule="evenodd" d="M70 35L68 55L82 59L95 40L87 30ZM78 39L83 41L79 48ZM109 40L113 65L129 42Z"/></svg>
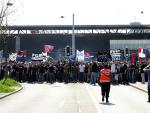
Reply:
<svg viewBox="0 0 150 113"><path fill-rule="evenodd" d="M21 87L21 84L11 78L0 80L0 93L13 92L15 87Z"/></svg>

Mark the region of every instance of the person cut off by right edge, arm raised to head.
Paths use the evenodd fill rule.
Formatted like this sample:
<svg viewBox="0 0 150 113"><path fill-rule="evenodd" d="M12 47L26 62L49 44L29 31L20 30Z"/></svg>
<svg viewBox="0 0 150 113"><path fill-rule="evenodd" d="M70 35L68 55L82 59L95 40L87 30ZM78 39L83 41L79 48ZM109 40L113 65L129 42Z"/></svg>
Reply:
<svg viewBox="0 0 150 113"><path fill-rule="evenodd" d="M148 75L148 101L150 102L150 63L143 69Z"/></svg>

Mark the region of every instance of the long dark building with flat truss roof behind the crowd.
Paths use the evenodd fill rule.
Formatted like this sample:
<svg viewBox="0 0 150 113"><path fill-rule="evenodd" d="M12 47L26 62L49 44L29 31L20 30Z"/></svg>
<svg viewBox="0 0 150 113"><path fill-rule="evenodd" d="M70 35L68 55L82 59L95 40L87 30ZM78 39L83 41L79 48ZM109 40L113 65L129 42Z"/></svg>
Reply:
<svg viewBox="0 0 150 113"><path fill-rule="evenodd" d="M18 50L27 50L28 54L41 53L44 45L54 46L50 55L60 58L64 55L63 49L71 47L72 26L8 26L9 37L0 37L0 50L7 49L7 53ZM98 51L110 49L149 49L149 25L75 25L75 46L78 50L86 50L92 55Z"/></svg>

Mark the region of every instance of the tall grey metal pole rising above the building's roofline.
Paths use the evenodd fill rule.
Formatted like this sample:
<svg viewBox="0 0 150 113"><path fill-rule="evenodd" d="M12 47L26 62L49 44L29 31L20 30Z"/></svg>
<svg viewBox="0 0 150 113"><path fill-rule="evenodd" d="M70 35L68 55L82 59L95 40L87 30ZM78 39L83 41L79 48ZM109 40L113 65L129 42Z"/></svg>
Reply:
<svg viewBox="0 0 150 113"><path fill-rule="evenodd" d="M75 55L74 13L72 15L72 55Z"/></svg>

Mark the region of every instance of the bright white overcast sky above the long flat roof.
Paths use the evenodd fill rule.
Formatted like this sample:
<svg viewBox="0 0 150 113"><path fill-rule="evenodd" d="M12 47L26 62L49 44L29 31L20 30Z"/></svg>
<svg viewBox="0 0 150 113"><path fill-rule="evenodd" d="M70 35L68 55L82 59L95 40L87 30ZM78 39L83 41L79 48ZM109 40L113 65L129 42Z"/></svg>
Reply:
<svg viewBox="0 0 150 113"><path fill-rule="evenodd" d="M15 24L70 25L73 13L76 25L150 23L149 0L23 0L21 9Z"/></svg>

